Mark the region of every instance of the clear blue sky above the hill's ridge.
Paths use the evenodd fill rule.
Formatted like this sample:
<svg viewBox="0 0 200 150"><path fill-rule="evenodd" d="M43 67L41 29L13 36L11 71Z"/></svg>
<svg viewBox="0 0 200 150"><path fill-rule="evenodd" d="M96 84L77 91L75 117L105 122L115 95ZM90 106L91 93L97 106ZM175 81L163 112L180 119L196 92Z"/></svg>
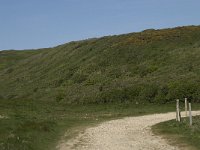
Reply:
<svg viewBox="0 0 200 150"><path fill-rule="evenodd" d="M200 25L199 0L0 0L0 50Z"/></svg>

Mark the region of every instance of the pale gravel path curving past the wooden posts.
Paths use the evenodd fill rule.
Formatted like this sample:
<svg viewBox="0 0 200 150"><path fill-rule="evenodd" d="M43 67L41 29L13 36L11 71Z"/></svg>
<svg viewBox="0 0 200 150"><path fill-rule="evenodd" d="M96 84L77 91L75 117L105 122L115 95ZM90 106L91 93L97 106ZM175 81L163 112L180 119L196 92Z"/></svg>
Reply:
<svg viewBox="0 0 200 150"><path fill-rule="evenodd" d="M200 115L200 111L193 112ZM182 115L183 116L183 115ZM153 135L151 126L175 118L175 113L153 114L104 122L76 138L61 143L59 150L179 150Z"/></svg>

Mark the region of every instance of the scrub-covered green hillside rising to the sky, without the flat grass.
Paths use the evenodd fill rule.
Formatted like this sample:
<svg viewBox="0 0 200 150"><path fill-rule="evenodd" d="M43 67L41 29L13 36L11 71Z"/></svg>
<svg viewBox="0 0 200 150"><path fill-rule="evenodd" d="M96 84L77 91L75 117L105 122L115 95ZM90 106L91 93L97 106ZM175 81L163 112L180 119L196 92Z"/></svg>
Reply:
<svg viewBox="0 0 200 150"><path fill-rule="evenodd" d="M70 42L35 53L3 51L0 60L1 99L200 101L200 26Z"/></svg>

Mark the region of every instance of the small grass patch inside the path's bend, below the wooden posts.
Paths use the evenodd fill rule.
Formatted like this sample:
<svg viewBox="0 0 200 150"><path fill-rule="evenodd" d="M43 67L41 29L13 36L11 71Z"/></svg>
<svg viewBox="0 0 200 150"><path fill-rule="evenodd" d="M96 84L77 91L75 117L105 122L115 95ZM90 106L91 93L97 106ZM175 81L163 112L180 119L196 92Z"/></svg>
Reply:
<svg viewBox="0 0 200 150"><path fill-rule="evenodd" d="M189 126L189 119L184 118L181 123L175 120L159 123L153 126L156 134L162 134L176 145L189 145L190 149L200 149L200 116L193 117L193 126ZM172 142L173 141L173 142Z"/></svg>

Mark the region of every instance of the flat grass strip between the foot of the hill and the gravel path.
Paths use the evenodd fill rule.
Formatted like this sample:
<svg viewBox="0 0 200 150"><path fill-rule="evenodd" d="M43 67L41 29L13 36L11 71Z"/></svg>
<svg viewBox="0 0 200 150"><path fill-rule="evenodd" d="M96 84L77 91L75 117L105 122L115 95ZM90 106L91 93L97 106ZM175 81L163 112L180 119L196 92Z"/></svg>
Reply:
<svg viewBox="0 0 200 150"><path fill-rule="evenodd" d="M67 133L69 139L102 121L125 116L168 112L173 105L58 105L27 100L1 100L1 150L55 150L58 141Z"/></svg>

